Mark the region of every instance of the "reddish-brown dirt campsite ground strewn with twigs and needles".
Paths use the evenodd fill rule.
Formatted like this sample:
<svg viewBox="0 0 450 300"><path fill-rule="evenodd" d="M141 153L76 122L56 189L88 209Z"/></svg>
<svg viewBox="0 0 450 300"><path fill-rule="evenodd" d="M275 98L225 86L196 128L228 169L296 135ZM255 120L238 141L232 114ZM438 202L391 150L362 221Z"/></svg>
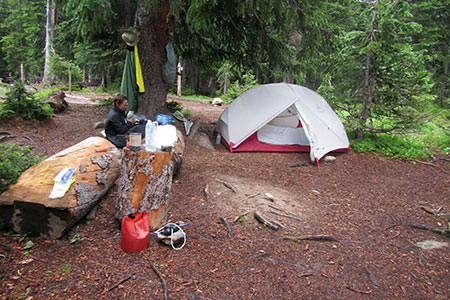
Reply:
<svg viewBox="0 0 450 300"><path fill-rule="evenodd" d="M0 232L1 299L450 298L449 238L411 226L447 226L448 156L412 164L344 153L319 172L307 153L229 153L213 136L223 107L183 103L202 123L171 192L168 221L189 223L185 246L152 239L122 251L115 185L93 220L59 240ZM50 156L98 135L107 110L72 101L49 123L2 121L1 143ZM202 133L214 149L199 145Z"/></svg>

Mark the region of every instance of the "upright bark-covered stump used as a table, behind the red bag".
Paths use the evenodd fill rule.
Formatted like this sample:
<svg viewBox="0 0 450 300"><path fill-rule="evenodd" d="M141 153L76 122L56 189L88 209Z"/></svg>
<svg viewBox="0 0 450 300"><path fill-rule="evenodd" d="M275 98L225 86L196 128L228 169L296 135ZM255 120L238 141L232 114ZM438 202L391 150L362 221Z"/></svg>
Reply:
<svg viewBox="0 0 450 300"><path fill-rule="evenodd" d="M130 213L147 211L150 231L159 229L167 219L173 175L181 165L184 141L171 152L146 152L124 149L117 196L118 224Z"/></svg>

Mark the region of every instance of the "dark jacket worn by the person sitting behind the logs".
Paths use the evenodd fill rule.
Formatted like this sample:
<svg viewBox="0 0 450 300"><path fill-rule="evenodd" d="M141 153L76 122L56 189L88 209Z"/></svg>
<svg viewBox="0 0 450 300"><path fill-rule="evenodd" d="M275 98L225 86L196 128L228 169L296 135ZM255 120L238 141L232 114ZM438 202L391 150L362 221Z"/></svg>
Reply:
<svg viewBox="0 0 450 300"><path fill-rule="evenodd" d="M113 107L106 118L106 138L117 148L123 148L127 144L128 132L133 126L133 123L127 121L124 111Z"/></svg>

